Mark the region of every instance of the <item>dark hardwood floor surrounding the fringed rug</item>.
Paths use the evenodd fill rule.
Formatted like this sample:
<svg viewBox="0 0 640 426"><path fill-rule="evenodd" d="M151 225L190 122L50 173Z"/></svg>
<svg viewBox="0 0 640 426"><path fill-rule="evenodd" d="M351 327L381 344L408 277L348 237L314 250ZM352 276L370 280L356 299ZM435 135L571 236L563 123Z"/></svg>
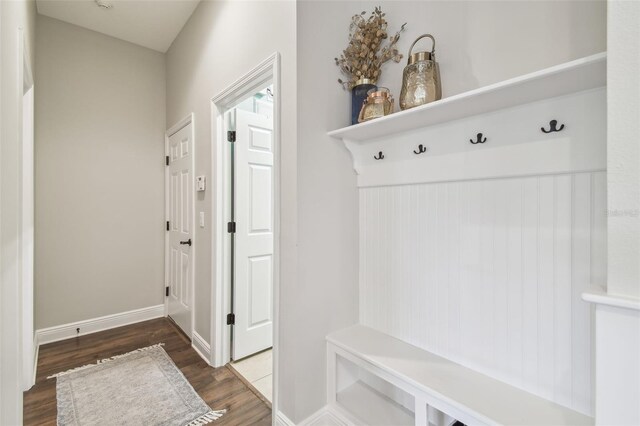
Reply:
<svg viewBox="0 0 640 426"><path fill-rule="evenodd" d="M212 368L166 318L81 336L40 347L36 384L24 393L25 425L56 425L56 380L47 376L156 343L213 410L227 413L215 425L270 425L271 408L229 367Z"/></svg>

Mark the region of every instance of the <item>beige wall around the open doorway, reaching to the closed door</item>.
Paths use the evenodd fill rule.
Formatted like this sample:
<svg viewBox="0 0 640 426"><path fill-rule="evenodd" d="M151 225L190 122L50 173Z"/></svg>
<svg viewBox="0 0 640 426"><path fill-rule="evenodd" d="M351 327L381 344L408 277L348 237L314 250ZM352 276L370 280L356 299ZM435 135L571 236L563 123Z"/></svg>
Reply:
<svg viewBox="0 0 640 426"><path fill-rule="evenodd" d="M203 1L169 48L167 125L191 112L195 122L195 175L207 176L207 191L197 193L196 212L205 213L205 228L196 227L195 331L211 340L211 223L215 220L215 172L211 163L211 98L274 52L282 66L282 264L283 282L295 262L295 3ZM215 123L213 123L215 126ZM215 129L214 129L215 131ZM288 268L288 269L287 269Z"/></svg>

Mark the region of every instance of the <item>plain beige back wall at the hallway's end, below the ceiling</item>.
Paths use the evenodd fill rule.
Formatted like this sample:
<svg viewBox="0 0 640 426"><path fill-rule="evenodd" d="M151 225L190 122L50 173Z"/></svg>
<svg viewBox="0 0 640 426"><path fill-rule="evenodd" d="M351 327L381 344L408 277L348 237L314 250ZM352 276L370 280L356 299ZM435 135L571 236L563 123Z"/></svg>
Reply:
<svg viewBox="0 0 640 426"><path fill-rule="evenodd" d="M38 17L36 328L163 303L161 53Z"/></svg>

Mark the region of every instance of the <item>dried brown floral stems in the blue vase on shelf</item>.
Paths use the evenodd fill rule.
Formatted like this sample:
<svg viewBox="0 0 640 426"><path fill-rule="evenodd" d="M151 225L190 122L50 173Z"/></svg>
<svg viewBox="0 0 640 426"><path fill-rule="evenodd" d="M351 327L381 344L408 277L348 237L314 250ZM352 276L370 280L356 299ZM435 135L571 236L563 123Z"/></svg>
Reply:
<svg viewBox="0 0 640 426"><path fill-rule="evenodd" d="M347 76L345 80L338 79L338 83L348 90L362 78L367 78L375 84L380 78L382 64L389 60L400 62L402 59L396 44L407 24L404 23L388 44L382 47L383 41L388 38L385 14L379 6L371 12L368 19L364 17L366 14L367 12L362 12L351 18L349 45L339 58L334 58L342 74Z"/></svg>

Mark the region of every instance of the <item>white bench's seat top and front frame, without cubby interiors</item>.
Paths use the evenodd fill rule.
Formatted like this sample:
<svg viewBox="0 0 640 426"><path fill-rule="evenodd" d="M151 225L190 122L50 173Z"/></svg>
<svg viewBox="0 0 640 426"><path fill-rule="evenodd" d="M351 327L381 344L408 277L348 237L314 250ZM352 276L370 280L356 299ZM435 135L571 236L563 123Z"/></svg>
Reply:
<svg viewBox="0 0 640 426"><path fill-rule="evenodd" d="M360 367L412 394L416 424L426 424L426 404L465 424L592 425L592 417L478 373L369 327L356 325L327 336L328 396L335 389L335 357L361 360ZM333 370L333 371L332 371ZM332 379L333 375L333 379ZM424 408L426 410L426 408ZM424 423L423 423L424 422Z"/></svg>

